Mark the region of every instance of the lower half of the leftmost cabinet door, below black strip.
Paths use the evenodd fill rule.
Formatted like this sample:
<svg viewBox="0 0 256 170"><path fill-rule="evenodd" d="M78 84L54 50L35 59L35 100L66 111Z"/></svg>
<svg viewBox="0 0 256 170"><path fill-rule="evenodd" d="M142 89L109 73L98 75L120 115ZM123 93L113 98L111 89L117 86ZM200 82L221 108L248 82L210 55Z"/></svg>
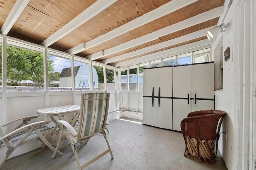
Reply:
<svg viewBox="0 0 256 170"><path fill-rule="evenodd" d="M152 98L143 97L143 124L156 126L157 99L154 99L152 106Z"/></svg>

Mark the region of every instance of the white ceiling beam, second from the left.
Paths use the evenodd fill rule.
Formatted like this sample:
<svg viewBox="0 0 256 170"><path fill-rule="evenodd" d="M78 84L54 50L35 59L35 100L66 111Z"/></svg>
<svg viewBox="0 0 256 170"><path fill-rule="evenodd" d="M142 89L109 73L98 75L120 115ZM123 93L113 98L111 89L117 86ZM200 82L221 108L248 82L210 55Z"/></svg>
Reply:
<svg viewBox="0 0 256 170"><path fill-rule="evenodd" d="M76 18L68 22L68 24L64 25L62 28L60 28L58 31L56 31L54 34L44 40L44 42L42 42L40 45L43 45L45 47L52 45L54 42L60 40L68 33L72 32L73 30L84 24L86 21L90 20L91 18L108 8L110 5L114 4L116 1L117 0L97 0L96 2L94 2L94 4L92 4L86 10L76 16Z"/></svg>

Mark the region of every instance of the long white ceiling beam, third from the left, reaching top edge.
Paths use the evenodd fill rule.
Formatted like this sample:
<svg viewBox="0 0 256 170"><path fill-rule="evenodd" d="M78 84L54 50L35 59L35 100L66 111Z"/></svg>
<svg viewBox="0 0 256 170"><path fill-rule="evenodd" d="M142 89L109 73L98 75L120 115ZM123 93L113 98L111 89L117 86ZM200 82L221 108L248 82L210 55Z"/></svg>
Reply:
<svg viewBox="0 0 256 170"><path fill-rule="evenodd" d="M129 32L131 30L134 30L135 28L138 28L144 24L147 24L153 20L156 20L158 18L161 18L162 16L165 16L167 14L170 14L176 10L179 10L180 8L183 8L185 6L188 6L189 4L192 4L198 0L172 0L159 8L156 8L114 30L111 30L110 32L107 32L106 34L103 34L102 36L98 36L97 38L94 38L93 40L86 42L86 43L80 43L79 45L68 49L67 53L70 54L76 54L80 53L81 51L85 51L86 49L92 48L96 45L99 45L100 43L104 43L108 40L111 40L112 38L118 37L126 32Z"/></svg>

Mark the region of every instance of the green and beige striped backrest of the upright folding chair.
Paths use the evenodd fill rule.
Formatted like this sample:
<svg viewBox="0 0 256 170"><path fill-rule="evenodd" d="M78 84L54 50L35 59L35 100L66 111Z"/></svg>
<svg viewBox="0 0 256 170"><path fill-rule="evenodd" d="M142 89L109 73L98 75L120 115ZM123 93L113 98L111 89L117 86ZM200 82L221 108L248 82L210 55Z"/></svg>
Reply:
<svg viewBox="0 0 256 170"><path fill-rule="evenodd" d="M109 93L86 93L81 96L79 120L80 137L88 136L104 128L108 112Z"/></svg>

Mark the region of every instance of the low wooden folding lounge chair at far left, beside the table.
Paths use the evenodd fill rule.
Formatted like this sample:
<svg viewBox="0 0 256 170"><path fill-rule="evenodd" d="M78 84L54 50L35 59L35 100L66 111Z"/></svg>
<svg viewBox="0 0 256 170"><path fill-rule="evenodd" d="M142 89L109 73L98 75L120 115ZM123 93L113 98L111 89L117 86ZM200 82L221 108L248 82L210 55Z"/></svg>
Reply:
<svg viewBox="0 0 256 170"><path fill-rule="evenodd" d="M44 142L46 146L48 146L51 150L55 151L54 146L52 146L46 140L46 138L44 138L44 135L50 134L52 132L52 129L46 126L46 124L50 123L50 121L39 121L28 124L28 121L37 118L38 116L40 115L23 117L0 126L0 146L4 144L8 148L5 156L0 162L0 167L4 164L10 154L18 146L30 142L31 140L34 140L36 138L42 140L42 142ZM20 123L20 125L14 128L14 130L12 130L10 133L6 134L2 127L5 127L6 125L9 125L10 123L14 123L16 121L22 121L22 123ZM57 154L61 156L63 155L60 151L58 151Z"/></svg>

